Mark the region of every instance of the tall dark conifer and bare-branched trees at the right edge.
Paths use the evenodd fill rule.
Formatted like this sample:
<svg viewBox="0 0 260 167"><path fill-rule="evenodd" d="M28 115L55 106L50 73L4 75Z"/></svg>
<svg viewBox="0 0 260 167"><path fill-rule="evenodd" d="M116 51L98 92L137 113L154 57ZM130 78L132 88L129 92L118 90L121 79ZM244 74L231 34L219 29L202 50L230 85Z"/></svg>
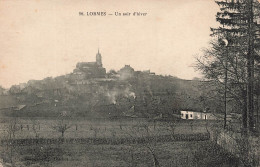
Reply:
<svg viewBox="0 0 260 167"><path fill-rule="evenodd" d="M211 28L212 40L196 68L213 81L215 91L224 102L224 128L227 106L242 113L245 134L255 131L258 123L260 81L260 4L257 0L215 1L220 11Z"/></svg>

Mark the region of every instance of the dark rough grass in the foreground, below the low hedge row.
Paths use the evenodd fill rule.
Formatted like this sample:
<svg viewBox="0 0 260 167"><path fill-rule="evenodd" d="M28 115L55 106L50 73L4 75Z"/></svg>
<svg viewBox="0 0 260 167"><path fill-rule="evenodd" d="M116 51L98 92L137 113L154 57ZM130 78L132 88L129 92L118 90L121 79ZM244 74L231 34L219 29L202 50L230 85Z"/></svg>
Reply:
<svg viewBox="0 0 260 167"><path fill-rule="evenodd" d="M210 141L129 145L41 144L3 147L1 150L5 162L19 167L152 167L152 152L161 167L238 166L236 158Z"/></svg>

